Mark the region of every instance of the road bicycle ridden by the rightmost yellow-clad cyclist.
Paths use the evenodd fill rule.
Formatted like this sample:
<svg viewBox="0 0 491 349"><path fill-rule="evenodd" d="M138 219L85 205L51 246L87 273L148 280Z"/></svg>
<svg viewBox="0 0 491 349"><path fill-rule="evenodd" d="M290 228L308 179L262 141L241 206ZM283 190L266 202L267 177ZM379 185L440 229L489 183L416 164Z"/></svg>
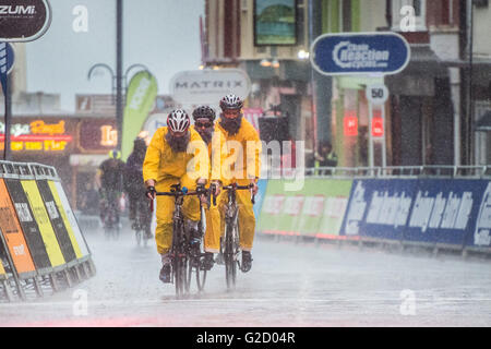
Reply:
<svg viewBox="0 0 491 349"><path fill-rule="evenodd" d="M220 253L224 256L225 279L229 290L236 287L237 267L241 269L239 262L239 206L237 205L236 193L238 190L251 190L252 188L252 184L238 185L237 183L223 188L227 191L228 202L225 205L225 236L224 239L220 239ZM212 190L212 197L213 204L216 205L216 197L213 193L214 190ZM252 204L254 204L254 196L251 197Z"/></svg>

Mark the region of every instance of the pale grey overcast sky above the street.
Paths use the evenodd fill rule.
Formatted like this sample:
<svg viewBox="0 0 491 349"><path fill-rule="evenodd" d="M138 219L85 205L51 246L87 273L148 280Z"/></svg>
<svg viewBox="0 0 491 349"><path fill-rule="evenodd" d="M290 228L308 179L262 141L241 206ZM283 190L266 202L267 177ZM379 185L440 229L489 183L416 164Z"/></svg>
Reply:
<svg viewBox="0 0 491 349"><path fill-rule="evenodd" d="M27 43L27 89L61 94L62 109L73 111L75 94L108 94L108 73L87 81L95 63L116 72L116 0L50 0L52 22L38 40ZM87 32L76 7L87 10ZM82 8L82 9L84 9ZM169 81L201 64L200 15L204 0L124 0L123 73L134 63L148 67L157 77L159 94L169 93ZM130 75L137 70L132 70Z"/></svg>

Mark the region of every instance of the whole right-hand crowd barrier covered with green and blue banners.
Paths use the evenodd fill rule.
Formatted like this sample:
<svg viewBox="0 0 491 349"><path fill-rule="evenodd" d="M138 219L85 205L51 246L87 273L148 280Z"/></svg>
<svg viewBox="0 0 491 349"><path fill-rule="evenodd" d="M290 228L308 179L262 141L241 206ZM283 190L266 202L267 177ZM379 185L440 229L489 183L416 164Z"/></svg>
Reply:
<svg viewBox="0 0 491 349"><path fill-rule="evenodd" d="M491 252L491 181L486 177L306 178L300 191L268 180L263 234Z"/></svg>

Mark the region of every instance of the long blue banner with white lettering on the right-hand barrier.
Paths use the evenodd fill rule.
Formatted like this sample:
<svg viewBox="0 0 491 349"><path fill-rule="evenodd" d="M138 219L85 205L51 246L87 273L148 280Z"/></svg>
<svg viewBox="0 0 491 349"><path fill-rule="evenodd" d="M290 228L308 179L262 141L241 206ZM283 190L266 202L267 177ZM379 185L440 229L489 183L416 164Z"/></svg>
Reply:
<svg viewBox="0 0 491 349"><path fill-rule="evenodd" d="M465 179L356 180L340 233L491 246L491 183Z"/></svg>

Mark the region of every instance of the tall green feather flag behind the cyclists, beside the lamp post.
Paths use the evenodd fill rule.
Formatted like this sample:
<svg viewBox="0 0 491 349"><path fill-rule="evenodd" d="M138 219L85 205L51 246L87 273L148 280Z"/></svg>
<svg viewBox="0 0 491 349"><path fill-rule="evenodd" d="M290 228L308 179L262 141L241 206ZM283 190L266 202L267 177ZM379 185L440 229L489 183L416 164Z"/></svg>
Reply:
<svg viewBox="0 0 491 349"><path fill-rule="evenodd" d="M127 107L122 124L121 158L127 160L133 151L133 141L142 130L157 97L157 80L147 71L133 75L128 86Z"/></svg>

